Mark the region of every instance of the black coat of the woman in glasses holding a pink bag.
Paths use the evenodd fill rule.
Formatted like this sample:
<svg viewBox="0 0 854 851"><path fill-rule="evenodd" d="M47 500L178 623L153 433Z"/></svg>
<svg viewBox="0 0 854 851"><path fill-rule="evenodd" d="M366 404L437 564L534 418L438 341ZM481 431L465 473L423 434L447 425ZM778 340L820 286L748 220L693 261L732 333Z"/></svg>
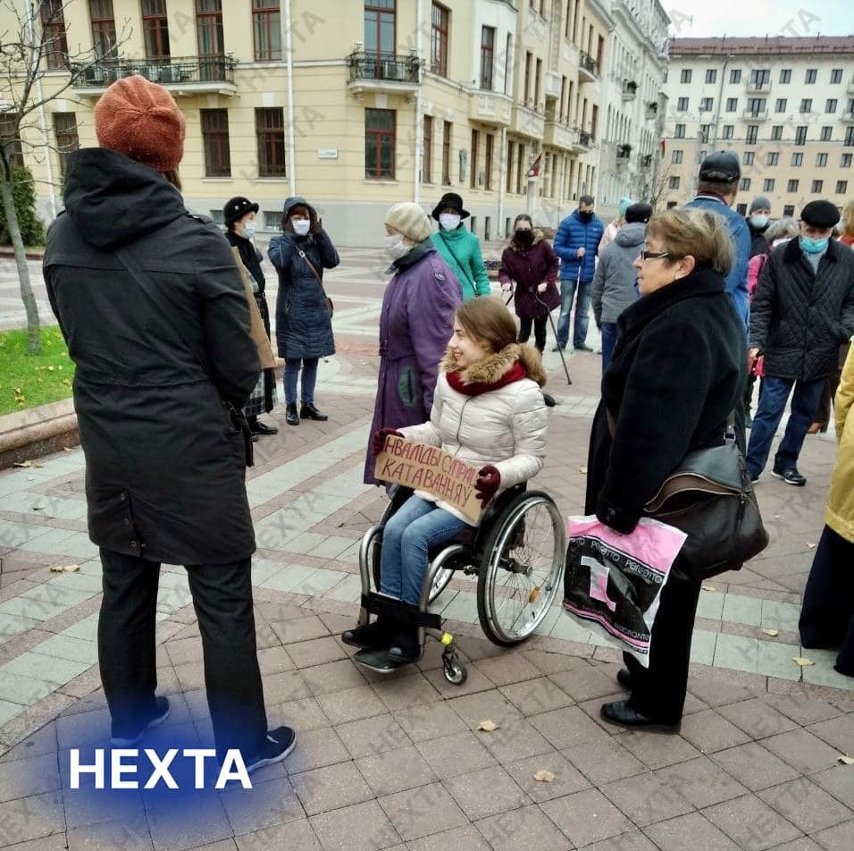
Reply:
<svg viewBox="0 0 854 851"><path fill-rule="evenodd" d="M586 513L625 534L689 451L724 442L744 334L724 279L707 269L639 299L617 328L590 434Z"/></svg>

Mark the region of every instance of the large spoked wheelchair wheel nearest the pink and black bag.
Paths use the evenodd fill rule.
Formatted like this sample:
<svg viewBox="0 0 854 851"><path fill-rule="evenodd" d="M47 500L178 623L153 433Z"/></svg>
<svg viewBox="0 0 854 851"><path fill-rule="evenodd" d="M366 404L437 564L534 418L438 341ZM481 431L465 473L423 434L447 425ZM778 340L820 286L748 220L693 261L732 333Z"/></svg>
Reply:
<svg viewBox="0 0 854 851"><path fill-rule="evenodd" d="M492 529L477 582L481 628L493 644L519 644L548 614L564 573L564 521L546 493L515 498Z"/></svg>

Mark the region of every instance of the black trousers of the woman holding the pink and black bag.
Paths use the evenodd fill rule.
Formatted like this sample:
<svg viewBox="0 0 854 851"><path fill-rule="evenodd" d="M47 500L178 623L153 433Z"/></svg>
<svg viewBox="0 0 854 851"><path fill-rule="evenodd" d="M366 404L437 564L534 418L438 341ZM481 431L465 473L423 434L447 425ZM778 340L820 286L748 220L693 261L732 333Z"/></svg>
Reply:
<svg viewBox="0 0 854 851"><path fill-rule="evenodd" d="M674 565L661 591L652 625L649 668L644 668L630 653L623 654L635 684L632 706L664 724L675 724L682 718L688 693L691 633L697 614L699 588L699 582L687 577Z"/></svg>

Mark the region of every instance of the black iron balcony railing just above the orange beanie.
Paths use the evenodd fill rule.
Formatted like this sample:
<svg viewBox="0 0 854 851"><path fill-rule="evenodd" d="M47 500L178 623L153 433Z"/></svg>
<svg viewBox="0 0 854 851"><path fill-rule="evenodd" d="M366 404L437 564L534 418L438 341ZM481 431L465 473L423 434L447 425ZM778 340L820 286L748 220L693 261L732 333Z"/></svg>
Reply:
<svg viewBox="0 0 854 851"><path fill-rule="evenodd" d="M133 74L140 74L164 86L194 83L227 83L233 86L234 65L235 60L230 54L102 59L96 63L71 64L71 73L78 77L75 88L106 88L115 80Z"/></svg>

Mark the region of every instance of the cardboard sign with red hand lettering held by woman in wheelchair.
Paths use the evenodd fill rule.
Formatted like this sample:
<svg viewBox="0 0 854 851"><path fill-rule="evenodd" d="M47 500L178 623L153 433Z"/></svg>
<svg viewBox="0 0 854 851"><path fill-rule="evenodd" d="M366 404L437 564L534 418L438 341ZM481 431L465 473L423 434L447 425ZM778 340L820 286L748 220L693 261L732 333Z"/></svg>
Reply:
<svg viewBox="0 0 854 851"><path fill-rule="evenodd" d="M438 446L389 436L373 476L380 482L426 491L476 523L481 518L481 501L474 493L479 469Z"/></svg>

